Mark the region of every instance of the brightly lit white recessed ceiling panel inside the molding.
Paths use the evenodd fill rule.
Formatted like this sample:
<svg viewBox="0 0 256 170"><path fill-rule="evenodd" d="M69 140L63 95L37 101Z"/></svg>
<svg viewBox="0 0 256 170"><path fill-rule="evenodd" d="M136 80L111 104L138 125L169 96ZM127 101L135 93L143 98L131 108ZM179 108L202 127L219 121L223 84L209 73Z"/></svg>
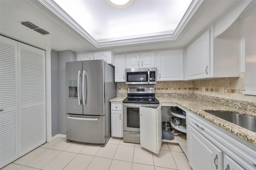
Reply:
<svg viewBox="0 0 256 170"><path fill-rule="evenodd" d="M133 0L124 8L107 0L54 2L94 40L108 42L174 34L192 0Z"/></svg>

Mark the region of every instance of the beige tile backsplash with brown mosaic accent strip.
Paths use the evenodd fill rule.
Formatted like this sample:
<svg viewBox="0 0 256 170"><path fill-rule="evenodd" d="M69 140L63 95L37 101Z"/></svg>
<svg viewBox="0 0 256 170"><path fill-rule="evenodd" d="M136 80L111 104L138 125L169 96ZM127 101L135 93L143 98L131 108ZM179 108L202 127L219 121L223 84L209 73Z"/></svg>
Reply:
<svg viewBox="0 0 256 170"><path fill-rule="evenodd" d="M119 93L127 93L128 87L138 86L140 85L119 83ZM148 85L141 85L141 87L148 87ZM240 77L221 79L158 81L153 87L155 88L155 93L194 93L256 103L256 96L242 94L244 91L244 73L240 73ZM224 94L220 93L221 87L224 88Z"/></svg>

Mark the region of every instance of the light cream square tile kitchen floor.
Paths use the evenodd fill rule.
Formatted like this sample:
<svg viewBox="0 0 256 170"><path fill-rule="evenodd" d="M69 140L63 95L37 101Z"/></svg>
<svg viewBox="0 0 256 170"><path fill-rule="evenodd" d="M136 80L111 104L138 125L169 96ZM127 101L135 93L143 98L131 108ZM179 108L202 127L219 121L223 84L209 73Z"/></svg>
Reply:
<svg viewBox="0 0 256 170"><path fill-rule="evenodd" d="M105 147L56 138L2 170L191 170L178 144L162 143L159 155L111 137Z"/></svg>

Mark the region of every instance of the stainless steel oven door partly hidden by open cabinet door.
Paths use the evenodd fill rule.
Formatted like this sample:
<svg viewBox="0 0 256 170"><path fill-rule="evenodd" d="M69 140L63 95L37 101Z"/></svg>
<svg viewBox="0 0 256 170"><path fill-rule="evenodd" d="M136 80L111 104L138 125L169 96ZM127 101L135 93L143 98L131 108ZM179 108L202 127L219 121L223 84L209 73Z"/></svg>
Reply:
<svg viewBox="0 0 256 170"><path fill-rule="evenodd" d="M140 106L157 108L159 104L123 104L123 130L140 132Z"/></svg>

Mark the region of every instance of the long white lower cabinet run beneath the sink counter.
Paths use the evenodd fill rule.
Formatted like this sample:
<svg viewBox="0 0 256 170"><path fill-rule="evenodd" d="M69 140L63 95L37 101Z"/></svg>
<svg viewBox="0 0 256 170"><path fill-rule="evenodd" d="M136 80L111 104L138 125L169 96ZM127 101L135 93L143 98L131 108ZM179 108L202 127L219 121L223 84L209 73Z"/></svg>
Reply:
<svg viewBox="0 0 256 170"><path fill-rule="evenodd" d="M194 170L256 169L256 146L194 114L186 113L189 164Z"/></svg>

